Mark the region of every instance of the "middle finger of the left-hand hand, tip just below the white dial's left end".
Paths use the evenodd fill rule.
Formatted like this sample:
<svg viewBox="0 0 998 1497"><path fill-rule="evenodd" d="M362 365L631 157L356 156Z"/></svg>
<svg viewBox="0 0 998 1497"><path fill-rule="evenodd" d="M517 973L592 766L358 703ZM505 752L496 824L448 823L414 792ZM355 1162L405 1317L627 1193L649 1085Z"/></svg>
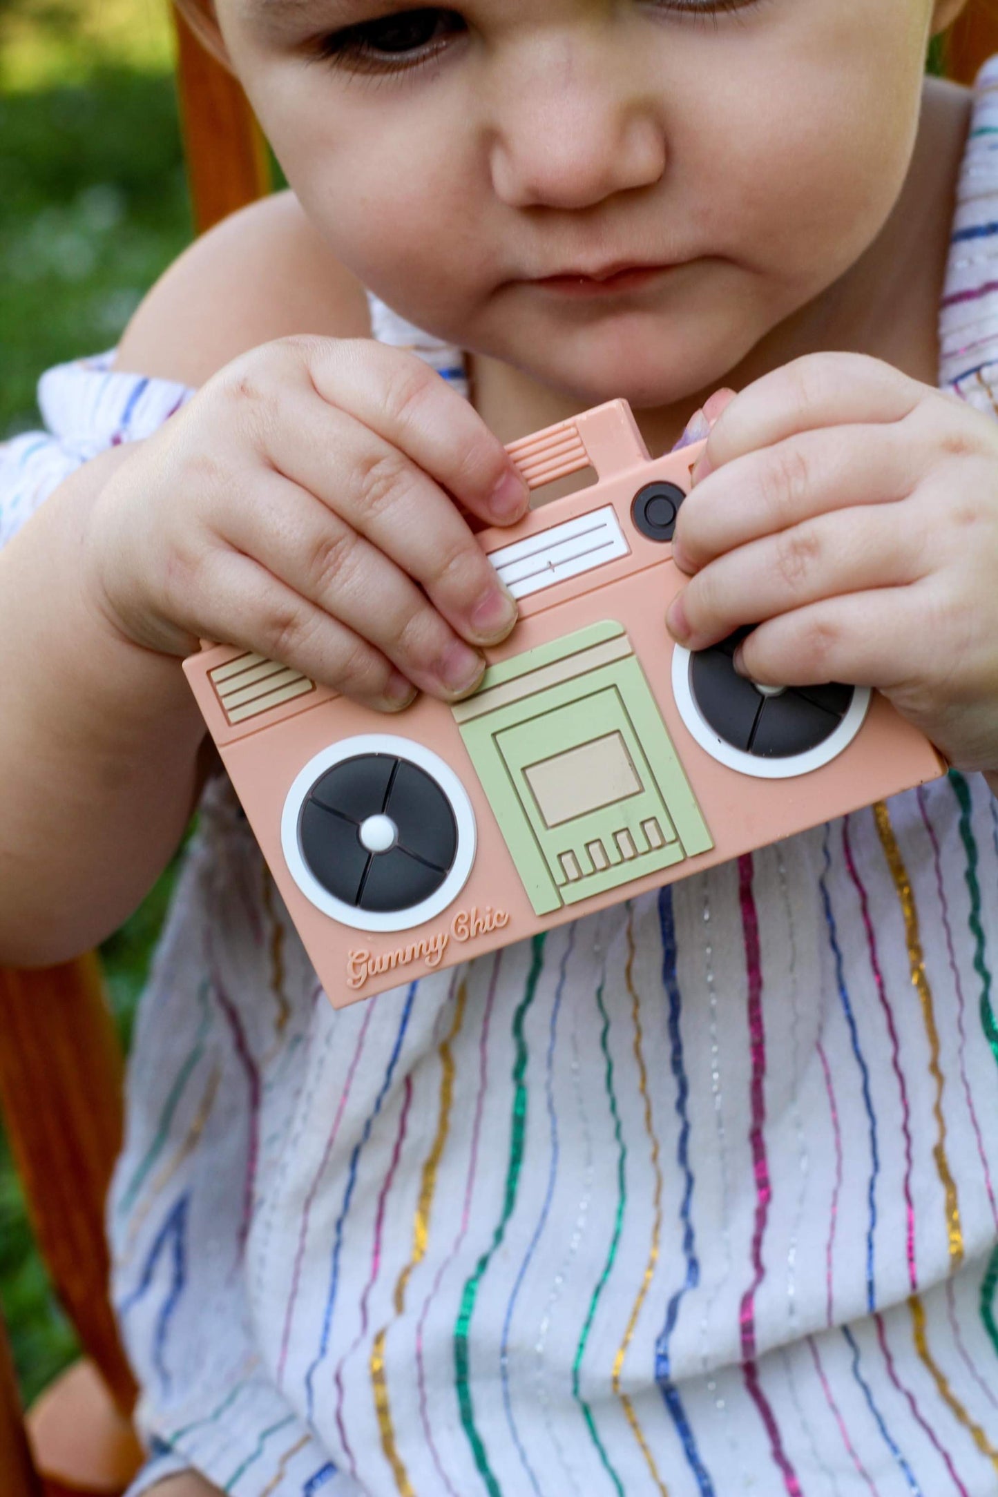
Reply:
<svg viewBox="0 0 998 1497"><path fill-rule="evenodd" d="M301 388L284 397L263 451L278 473L414 578L465 639L506 638L513 597L453 501L405 452Z"/></svg>

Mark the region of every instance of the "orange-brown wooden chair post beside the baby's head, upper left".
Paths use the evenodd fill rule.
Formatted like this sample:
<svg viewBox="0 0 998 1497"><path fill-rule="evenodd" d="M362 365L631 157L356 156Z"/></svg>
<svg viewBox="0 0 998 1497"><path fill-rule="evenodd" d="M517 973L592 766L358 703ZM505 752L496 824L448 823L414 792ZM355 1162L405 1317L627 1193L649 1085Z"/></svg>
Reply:
<svg viewBox="0 0 998 1497"><path fill-rule="evenodd" d="M203 234L236 208L263 198L271 190L271 168L242 88L200 45L180 12L174 6L171 10L195 229Z"/></svg>

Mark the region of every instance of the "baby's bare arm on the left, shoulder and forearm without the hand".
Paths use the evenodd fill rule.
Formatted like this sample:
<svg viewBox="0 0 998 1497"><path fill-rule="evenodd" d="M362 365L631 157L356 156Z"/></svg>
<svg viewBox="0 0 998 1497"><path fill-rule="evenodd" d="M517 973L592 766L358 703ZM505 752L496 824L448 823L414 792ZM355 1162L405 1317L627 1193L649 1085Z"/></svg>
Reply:
<svg viewBox="0 0 998 1497"><path fill-rule="evenodd" d="M292 195L275 195L181 254L115 367L198 386L308 326L305 307L325 334L361 332L358 295L347 272L331 274ZM211 763L178 657L132 644L81 593L88 512L136 448L72 473L0 551L3 963L60 961L115 930L169 861Z"/></svg>

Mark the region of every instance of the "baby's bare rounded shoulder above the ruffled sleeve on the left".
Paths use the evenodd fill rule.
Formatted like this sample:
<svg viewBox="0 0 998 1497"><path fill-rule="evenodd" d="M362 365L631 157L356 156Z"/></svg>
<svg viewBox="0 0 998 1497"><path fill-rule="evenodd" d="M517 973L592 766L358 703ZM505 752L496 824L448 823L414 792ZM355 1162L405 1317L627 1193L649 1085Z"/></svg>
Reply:
<svg viewBox="0 0 998 1497"><path fill-rule="evenodd" d="M169 266L129 322L114 368L203 385L272 338L370 331L364 286L281 192L224 219Z"/></svg>

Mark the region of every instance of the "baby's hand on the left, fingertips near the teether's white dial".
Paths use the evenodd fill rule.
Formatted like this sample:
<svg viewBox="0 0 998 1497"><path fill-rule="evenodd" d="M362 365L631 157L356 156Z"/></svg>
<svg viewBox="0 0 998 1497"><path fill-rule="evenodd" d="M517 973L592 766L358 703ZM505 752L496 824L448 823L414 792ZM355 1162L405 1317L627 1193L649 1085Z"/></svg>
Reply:
<svg viewBox="0 0 998 1497"><path fill-rule="evenodd" d="M280 338L209 379L94 503L85 566L136 644L254 650L368 707L480 678L516 603L455 500L512 524L527 487L414 353ZM468 641L470 644L467 644Z"/></svg>

